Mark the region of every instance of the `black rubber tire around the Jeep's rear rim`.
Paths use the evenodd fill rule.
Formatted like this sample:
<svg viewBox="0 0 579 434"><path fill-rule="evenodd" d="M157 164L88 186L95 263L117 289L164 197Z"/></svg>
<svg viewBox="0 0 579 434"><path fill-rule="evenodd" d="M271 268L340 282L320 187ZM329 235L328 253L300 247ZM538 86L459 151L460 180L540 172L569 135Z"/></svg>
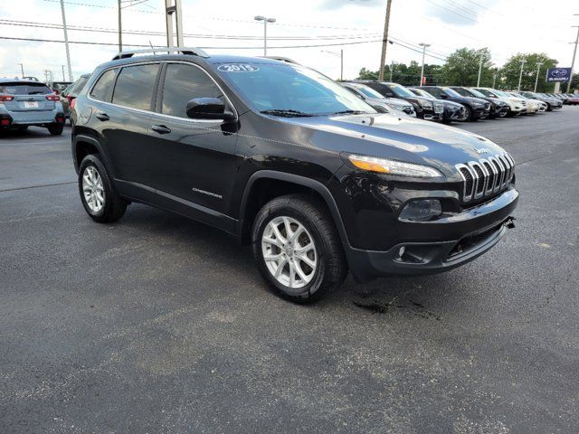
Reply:
<svg viewBox="0 0 579 434"><path fill-rule="evenodd" d="M104 203L99 211L93 211L90 209L90 205L87 203L87 199L82 190L82 177L85 175L85 171L88 167L93 167L97 171L97 174L100 175L102 189L104 191L102 196ZM114 184L111 182L109 173L107 172L105 165L102 164L98 154L85 156L81 161L81 167L79 170L79 193L81 194L81 202L82 206L84 206L84 210L95 222L116 222L127 211L127 201L117 193Z"/></svg>

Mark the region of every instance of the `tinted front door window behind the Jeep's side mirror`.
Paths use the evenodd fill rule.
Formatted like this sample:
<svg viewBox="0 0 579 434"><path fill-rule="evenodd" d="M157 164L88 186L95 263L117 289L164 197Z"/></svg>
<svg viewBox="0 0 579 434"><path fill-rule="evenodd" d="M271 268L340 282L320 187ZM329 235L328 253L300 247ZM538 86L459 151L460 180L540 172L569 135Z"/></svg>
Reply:
<svg viewBox="0 0 579 434"><path fill-rule="evenodd" d="M168 64L161 113L186 118L187 101L194 98L223 98L223 92L199 68L181 63Z"/></svg>

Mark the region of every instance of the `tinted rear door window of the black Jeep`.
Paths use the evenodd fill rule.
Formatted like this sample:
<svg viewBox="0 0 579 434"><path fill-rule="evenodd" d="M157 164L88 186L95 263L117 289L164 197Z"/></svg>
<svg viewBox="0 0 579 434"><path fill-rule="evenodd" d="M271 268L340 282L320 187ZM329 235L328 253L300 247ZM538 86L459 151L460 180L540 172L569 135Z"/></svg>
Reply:
<svg viewBox="0 0 579 434"><path fill-rule="evenodd" d="M158 63L128 66L119 73L112 102L133 109L151 109Z"/></svg>

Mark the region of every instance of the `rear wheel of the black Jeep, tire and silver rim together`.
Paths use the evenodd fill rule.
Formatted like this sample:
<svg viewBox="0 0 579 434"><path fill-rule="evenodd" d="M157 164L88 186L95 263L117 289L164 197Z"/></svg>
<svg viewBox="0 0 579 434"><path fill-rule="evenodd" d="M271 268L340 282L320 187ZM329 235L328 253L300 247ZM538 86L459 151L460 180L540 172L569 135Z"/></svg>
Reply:
<svg viewBox="0 0 579 434"><path fill-rule="evenodd" d="M115 222L127 210L98 155L85 156L79 170L79 193L84 210L95 222Z"/></svg>

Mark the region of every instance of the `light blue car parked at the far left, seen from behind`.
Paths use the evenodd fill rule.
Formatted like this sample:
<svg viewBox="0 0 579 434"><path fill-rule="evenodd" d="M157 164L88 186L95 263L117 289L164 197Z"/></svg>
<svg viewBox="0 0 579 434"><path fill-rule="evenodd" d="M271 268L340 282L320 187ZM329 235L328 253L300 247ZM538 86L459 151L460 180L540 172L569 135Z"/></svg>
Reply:
<svg viewBox="0 0 579 434"><path fill-rule="evenodd" d="M60 136L64 128L60 97L39 81L0 79L0 131L31 125Z"/></svg>

